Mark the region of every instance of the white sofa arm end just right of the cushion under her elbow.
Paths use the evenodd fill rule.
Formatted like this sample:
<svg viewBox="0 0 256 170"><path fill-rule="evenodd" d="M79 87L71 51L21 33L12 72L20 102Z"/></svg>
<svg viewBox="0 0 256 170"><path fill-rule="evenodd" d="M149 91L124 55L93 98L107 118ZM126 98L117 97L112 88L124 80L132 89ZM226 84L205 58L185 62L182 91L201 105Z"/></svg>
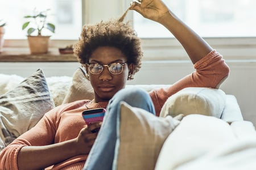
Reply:
<svg viewBox="0 0 256 170"><path fill-rule="evenodd" d="M243 120L240 107L234 95L226 95L226 104L222 111L221 119L228 123Z"/></svg>

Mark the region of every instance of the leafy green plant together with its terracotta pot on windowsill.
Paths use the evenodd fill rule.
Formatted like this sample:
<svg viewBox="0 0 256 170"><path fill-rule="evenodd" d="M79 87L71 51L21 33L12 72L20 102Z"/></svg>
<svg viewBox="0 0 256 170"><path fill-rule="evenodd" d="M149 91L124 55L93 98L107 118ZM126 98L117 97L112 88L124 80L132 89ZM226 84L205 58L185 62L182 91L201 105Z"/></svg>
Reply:
<svg viewBox="0 0 256 170"><path fill-rule="evenodd" d="M33 15L26 15L24 18L29 21L22 25L22 30L27 29L28 45L31 54L46 54L48 52L49 37L43 36L42 31L48 30L55 33L55 25L47 22L49 9L45 11L34 10Z"/></svg>

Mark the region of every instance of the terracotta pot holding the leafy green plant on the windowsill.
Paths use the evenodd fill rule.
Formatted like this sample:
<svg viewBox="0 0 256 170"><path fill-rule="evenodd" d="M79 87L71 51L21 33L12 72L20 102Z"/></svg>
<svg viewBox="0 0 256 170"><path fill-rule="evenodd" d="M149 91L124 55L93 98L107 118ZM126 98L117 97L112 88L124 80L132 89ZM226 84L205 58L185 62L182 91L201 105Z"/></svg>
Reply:
<svg viewBox="0 0 256 170"><path fill-rule="evenodd" d="M27 36L31 54L48 53L50 36Z"/></svg>

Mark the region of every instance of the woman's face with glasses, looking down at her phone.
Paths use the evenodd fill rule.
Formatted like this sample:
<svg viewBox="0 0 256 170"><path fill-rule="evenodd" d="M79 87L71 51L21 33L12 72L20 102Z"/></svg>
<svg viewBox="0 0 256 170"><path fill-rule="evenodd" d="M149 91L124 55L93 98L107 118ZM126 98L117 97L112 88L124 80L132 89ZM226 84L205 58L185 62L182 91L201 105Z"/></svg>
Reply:
<svg viewBox="0 0 256 170"><path fill-rule="evenodd" d="M89 58L89 63L100 63L101 65L125 62L127 62L125 54L112 46L98 47ZM89 67L86 66L96 102L110 100L116 92L125 87L129 72L133 73L133 65L128 66L127 63L123 66L123 71L120 74L112 74L107 66L103 67L104 69L100 74L92 74Z"/></svg>

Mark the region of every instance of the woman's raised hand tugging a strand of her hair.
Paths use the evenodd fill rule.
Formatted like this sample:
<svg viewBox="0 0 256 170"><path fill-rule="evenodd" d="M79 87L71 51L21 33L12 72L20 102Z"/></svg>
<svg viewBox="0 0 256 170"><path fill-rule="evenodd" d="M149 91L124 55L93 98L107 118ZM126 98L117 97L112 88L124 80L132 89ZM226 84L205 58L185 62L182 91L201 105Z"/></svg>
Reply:
<svg viewBox="0 0 256 170"><path fill-rule="evenodd" d="M168 7L161 0L136 0L131 2L130 10L139 12L144 18L159 22L168 13Z"/></svg>

